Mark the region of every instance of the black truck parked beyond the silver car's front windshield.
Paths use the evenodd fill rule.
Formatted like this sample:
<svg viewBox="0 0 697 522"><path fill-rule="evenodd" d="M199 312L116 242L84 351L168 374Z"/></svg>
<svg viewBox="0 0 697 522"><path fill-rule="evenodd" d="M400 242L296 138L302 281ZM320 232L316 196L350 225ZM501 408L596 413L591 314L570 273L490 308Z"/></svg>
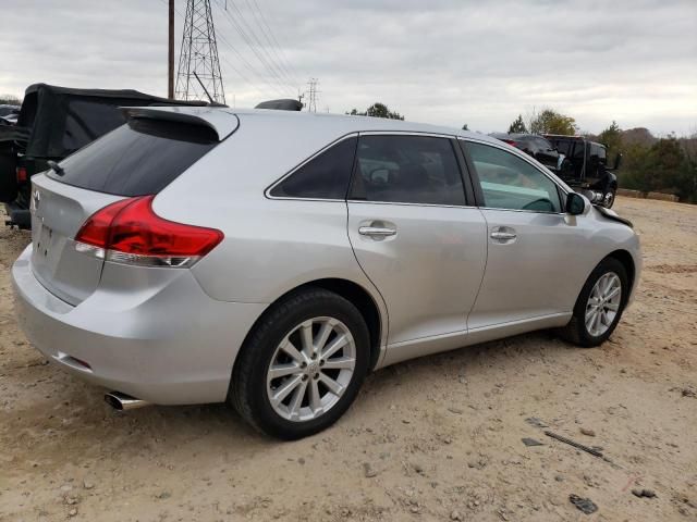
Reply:
<svg viewBox="0 0 697 522"><path fill-rule="evenodd" d="M545 137L560 154L564 154L557 175L576 191L583 191L595 203L611 208L617 192L617 176L622 154L617 154L612 166L608 165L606 146L583 136L546 134Z"/></svg>

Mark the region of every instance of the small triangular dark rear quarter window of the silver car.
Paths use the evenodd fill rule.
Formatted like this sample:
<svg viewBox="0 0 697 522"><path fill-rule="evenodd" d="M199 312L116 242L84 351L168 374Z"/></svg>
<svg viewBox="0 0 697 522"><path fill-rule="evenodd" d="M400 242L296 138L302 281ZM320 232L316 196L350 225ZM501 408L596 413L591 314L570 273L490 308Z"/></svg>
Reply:
<svg viewBox="0 0 697 522"><path fill-rule="evenodd" d="M345 199L351 181L356 138L340 141L313 158L271 189L281 198Z"/></svg>

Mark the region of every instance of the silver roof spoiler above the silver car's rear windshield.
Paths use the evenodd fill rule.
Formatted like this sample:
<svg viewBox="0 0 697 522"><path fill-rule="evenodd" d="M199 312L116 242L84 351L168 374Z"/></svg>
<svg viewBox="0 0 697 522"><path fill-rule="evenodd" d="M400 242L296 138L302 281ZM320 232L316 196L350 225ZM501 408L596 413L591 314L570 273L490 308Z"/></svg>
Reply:
<svg viewBox="0 0 697 522"><path fill-rule="evenodd" d="M188 109L188 108L187 108ZM235 114L227 111L212 111L210 108L201 107L197 113L192 113L192 109L187 112L181 112L175 107L126 107L122 108L124 116L131 119L148 119L168 122L186 123L189 125L199 125L212 129L218 136L218 141L222 141L240 126L240 120Z"/></svg>

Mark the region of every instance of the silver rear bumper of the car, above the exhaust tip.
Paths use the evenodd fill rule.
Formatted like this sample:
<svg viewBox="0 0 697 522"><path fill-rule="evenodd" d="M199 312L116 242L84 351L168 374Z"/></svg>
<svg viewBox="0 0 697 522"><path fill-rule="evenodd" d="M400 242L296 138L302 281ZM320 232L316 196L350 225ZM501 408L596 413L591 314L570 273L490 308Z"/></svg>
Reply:
<svg viewBox="0 0 697 522"><path fill-rule="evenodd" d="M32 246L12 268L15 308L27 338L49 360L154 403L225 400L240 346L266 304L217 301L189 271L175 269L155 290L100 285L73 307L37 281L30 253Z"/></svg>

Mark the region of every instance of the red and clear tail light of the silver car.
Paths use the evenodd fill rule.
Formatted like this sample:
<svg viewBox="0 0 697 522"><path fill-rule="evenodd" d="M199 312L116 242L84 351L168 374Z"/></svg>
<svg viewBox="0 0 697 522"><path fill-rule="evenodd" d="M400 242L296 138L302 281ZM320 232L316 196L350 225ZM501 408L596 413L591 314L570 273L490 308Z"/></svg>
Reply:
<svg viewBox="0 0 697 522"><path fill-rule="evenodd" d="M215 228L160 217L154 198L122 199L98 210L75 236L75 249L117 263L188 268L222 241Z"/></svg>

